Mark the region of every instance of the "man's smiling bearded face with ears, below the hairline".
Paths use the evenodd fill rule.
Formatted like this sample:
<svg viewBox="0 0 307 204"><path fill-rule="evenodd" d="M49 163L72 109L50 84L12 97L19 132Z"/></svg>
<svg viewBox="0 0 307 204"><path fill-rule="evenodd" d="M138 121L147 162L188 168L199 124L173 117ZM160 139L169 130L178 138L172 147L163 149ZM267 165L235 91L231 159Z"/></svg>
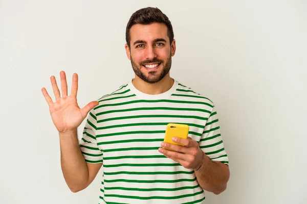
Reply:
<svg viewBox="0 0 307 204"><path fill-rule="evenodd" d="M163 23L135 24L130 29L130 48L127 44L125 48L136 75L147 83L157 83L169 74L176 44L173 40L170 45Z"/></svg>

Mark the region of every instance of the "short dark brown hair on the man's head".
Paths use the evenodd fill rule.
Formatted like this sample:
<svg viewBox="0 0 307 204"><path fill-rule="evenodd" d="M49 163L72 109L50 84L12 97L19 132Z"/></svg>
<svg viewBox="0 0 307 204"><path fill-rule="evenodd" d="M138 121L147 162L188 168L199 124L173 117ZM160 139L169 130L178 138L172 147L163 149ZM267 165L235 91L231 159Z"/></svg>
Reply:
<svg viewBox="0 0 307 204"><path fill-rule="evenodd" d="M167 36L171 44L174 39L174 33L168 17L158 8L147 7L133 13L126 27L126 42L130 47L130 29L134 24L148 25L154 22L163 23L167 27Z"/></svg>

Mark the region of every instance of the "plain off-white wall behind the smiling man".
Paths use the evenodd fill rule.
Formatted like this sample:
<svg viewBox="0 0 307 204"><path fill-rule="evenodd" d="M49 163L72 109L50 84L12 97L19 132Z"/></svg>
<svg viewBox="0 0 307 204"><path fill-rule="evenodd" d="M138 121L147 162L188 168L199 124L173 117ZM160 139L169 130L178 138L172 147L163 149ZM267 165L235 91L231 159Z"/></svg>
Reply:
<svg viewBox="0 0 307 204"><path fill-rule="evenodd" d="M204 203L307 203L306 1L0 0L0 203L98 203L99 171L72 193L41 88L79 74L85 106L134 77L126 23L158 7L173 25L171 77L217 108L230 180ZM84 122L80 125L80 133Z"/></svg>

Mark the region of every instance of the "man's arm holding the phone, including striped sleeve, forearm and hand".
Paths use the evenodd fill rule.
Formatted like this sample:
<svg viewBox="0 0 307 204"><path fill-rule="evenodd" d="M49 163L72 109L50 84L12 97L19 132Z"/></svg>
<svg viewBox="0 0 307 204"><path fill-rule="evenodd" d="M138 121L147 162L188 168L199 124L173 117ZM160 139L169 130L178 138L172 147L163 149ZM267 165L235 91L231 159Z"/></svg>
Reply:
<svg viewBox="0 0 307 204"><path fill-rule="evenodd" d="M159 148L159 151L183 167L194 169L196 179L203 189L214 194L220 194L226 189L230 172L228 165L224 163L228 163L228 157L214 107L199 143L190 137L188 139L174 137L172 140L184 146L162 142L162 146L174 151L162 148Z"/></svg>

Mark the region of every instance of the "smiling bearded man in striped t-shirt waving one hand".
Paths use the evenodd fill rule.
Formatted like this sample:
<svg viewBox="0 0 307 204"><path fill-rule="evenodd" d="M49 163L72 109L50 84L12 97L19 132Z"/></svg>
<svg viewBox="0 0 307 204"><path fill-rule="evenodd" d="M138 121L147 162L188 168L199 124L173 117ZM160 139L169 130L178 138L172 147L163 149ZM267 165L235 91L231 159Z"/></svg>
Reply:
<svg viewBox="0 0 307 204"><path fill-rule="evenodd" d="M211 100L170 78L176 41L168 17L157 8L136 11L126 42L135 78L115 92L80 109L76 73L70 96L65 73L62 97L51 77L55 103L42 88L69 188L85 189L103 165L99 203L201 203L203 189L220 194L229 168L216 111ZM89 112L78 142L77 127ZM189 125L188 139L173 138L184 146L163 142L168 123Z"/></svg>

